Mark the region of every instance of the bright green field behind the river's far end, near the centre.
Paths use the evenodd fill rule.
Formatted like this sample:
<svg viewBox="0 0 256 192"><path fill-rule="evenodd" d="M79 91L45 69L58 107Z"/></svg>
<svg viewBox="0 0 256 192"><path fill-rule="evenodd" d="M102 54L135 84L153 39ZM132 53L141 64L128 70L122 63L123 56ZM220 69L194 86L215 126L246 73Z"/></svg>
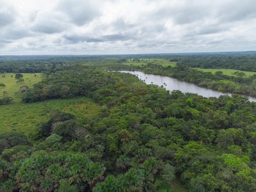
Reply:
<svg viewBox="0 0 256 192"><path fill-rule="evenodd" d="M171 62L167 59L129 59L127 63L123 63L124 65L134 65L134 66L141 66L147 65L147 63L153 63L157 65L162 65L163 67L171 66L175 67L177 62Z"/></svg>

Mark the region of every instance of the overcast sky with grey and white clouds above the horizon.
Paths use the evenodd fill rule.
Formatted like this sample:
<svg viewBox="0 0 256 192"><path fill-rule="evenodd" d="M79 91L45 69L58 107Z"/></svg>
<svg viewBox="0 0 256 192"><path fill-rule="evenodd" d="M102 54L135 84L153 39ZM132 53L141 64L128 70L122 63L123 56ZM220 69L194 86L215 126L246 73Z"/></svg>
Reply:
<svg viewBox="0 0 256 192"><path fill-rule="evenodd" d="M0 55L250 50L255 0L0 0Z"/></svg>

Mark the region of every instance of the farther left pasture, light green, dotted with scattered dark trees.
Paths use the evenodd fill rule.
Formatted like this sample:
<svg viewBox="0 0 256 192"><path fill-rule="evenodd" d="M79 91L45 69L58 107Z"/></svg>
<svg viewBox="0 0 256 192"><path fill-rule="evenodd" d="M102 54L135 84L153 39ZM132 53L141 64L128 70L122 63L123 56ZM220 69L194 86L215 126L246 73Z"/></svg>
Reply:
<svg viewBox="0 0 256 192"><path fill-rule="evenodd" d="M34 84L40 82L42 80L42 74L41 73L21 73L23 75L24 83L17 84L17 80L15 78L14 73L4 73L5 77L2 77L0 75L0 83L3 83L6 85L6 87L0 88L0 96L2 96L2 92L6 91L9 93L9 96L14 98L14 102L18 103L20 102L21 98L18 95L15 95L15 92L18 92L20 87L23 85L27 85L28 87L32 88ZM11 77L13 76L13 77Z"/></svg>

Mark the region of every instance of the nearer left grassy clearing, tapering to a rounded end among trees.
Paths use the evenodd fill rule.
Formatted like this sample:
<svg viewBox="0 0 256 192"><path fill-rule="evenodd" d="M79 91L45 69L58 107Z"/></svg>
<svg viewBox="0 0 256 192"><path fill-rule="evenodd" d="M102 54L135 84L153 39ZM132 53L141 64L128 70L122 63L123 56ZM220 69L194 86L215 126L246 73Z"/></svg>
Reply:
<svg viewBox="0 0 256 192"><path fill-rule="evenodd" d="M0 133L16 130L29 136L36 129L37 123L49 119L51 109L69 112L83 119L97 114L101 106L85 97L0 105Z"/></svg>

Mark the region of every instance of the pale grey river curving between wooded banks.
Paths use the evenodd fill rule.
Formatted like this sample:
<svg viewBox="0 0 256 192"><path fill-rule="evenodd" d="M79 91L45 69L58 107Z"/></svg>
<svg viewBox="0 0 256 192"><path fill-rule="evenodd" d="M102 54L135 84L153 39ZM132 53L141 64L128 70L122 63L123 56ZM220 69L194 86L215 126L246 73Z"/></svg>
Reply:
<svg viewBox="0 0 256 192"><path fill-rule="evenodd" d="M143 80L146 84L155 84L158 86L163 85L164 88L168 91L173 91L173 90L180 90L183 93L195 93L204 97L219 97L220 95L229 95L231 96L232 94L229 92L219 92L213 89L207 89L204 87L198 87L198 85L193 84L193 83L187 83L181 80L177 80L175 78L171 78L168 76L162 76L162 75L152 75L152 74L144 74L141 71L120 71L122 73L130 73L135 76L137 76L139 79ZM246 96L246 95L244 95ZM256 102L256 98L252 96L247 96L249 101L254 101Z"/></svg>

